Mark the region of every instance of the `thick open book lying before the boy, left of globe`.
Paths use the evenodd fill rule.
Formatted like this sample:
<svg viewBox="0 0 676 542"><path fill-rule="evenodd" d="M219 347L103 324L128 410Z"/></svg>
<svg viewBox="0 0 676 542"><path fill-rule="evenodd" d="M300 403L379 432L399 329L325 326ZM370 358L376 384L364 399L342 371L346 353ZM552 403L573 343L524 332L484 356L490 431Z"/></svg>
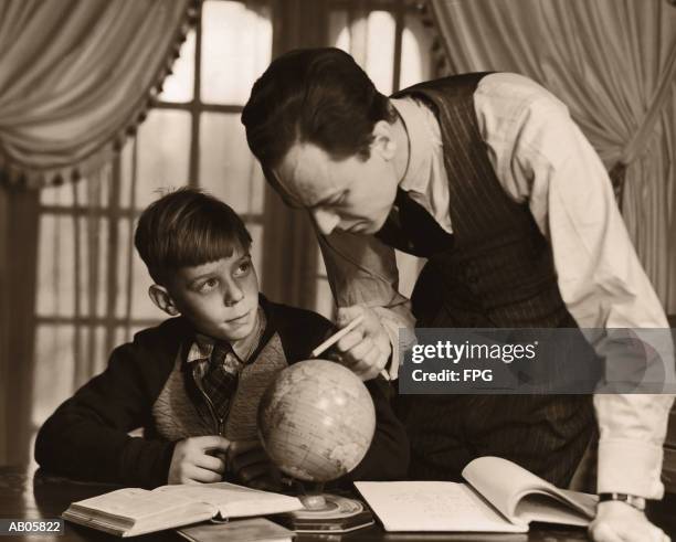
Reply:
<svg viewBox="0 0 676 542"><path fill-rule="evenodd" d="M234 483L162 486L152 491L127 488L73 502L63 519L118 536L187 525L300 510L295 497Z"/></svg>

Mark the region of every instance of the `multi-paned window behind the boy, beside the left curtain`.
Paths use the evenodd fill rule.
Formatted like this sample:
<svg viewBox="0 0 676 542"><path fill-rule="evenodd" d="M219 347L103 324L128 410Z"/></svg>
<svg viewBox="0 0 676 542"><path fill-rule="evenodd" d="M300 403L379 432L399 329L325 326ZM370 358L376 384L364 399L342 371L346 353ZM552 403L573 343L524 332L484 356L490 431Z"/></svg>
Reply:
<svg viewBox="0 0 676 542"><path fill-rule="evenodd" d="M166 318L148 298L133 242L159 190L188 184L226 201L261 261L264 180L240 114L271 57L266 2L204 1L158 103L119 157L95 178L41 192L35 427L104 369L116 344Z"/></svg>

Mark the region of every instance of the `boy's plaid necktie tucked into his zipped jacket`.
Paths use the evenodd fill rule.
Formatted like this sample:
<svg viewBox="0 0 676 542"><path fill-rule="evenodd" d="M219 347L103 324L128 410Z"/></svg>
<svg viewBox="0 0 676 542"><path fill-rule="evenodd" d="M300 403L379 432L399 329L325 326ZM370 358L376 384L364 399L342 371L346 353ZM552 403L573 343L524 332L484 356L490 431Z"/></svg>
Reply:
<svg viewBox="0 0 676 542"><path fill-rule="evenodd" d="M228 416L230 402L237 387L240 368L241 363L228 342L216 342L213 346L209 368L202 378L202 390L209 396L220 422Z"/></svg>

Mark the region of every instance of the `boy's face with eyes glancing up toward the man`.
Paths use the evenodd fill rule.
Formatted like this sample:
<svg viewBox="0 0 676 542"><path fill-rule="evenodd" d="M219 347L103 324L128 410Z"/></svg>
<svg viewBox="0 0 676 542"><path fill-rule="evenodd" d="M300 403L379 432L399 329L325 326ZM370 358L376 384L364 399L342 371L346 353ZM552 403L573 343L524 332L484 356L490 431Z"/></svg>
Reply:
<svg viewBox="0 0 676 542"><path fill-rule="evenodd" d="M240 247L230 257L180 268L166 291L173 309L213 339L244 339L256 323L258 278L249 252Z"/></svg>

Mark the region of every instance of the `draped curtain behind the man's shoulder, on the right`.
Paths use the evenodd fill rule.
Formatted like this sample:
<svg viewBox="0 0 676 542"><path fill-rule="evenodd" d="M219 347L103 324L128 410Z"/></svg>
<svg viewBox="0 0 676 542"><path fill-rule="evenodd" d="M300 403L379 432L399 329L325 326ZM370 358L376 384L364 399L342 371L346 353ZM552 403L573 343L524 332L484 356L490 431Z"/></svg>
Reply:
<svg viewBox="0 0 676 542"><path fill-rule="evenodd" d="M676 312L676 8L664 0L429 7L450 72L518 72L569 106L622 188L638 256Z"/></svg>

